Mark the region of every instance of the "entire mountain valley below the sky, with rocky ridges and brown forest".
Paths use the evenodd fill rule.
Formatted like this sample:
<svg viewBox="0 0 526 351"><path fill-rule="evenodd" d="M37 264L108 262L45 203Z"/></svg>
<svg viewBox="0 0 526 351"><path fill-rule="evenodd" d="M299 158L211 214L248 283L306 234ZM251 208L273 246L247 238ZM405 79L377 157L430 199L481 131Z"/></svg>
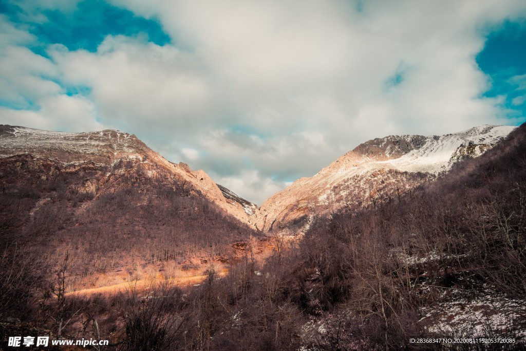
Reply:
<svg viewBox="0 0 526 351"><path fill-rule="evenodd" d="M0 337L38 327L126 350L520 342L525 147L525 125L372 139L258 207L134 135L2 125Z"/></svg>

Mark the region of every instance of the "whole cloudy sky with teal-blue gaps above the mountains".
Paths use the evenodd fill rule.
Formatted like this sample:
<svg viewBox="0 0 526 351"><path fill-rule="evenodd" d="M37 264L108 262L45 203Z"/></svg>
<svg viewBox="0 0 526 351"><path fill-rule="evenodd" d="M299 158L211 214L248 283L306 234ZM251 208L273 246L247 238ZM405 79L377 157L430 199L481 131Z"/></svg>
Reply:
<svg viewBox="0 0 526 351"><path fill-rule="evenodd" d="M368 139L525 116L523 0L0 0L0 124L119 129L256 204Z"/></svg>

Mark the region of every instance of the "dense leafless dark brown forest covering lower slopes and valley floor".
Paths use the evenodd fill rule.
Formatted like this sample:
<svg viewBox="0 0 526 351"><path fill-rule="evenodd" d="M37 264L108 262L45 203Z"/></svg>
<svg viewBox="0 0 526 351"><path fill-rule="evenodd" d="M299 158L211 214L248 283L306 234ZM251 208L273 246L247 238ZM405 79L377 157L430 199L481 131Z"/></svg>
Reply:
<svg viewBox="0 0 526 351"><path fill-rule="evenodd" d="M133 173L94 197L70 186L89 167L82 179L45 179L35 169L53 165L3 159L0 338L51 333L109 339L106 349L122 350L362 350L485 349L409 340L500 336L516 343L499 349L520 348L525 155L522 125L436 182L317 218L301 240L275 235L262 263L249 240L261 234L185 184L141 183ZM244 254L228 257L241 240ZM229 264L228 275L210 265L197 286L182 289L166 276L147 291L132 279L125 293L66 294L97 272L131 267L133 276L137 264L212 256ZM458 318L476 313L488 323ZM501 323L491 323L495 314Z"/></svg>

